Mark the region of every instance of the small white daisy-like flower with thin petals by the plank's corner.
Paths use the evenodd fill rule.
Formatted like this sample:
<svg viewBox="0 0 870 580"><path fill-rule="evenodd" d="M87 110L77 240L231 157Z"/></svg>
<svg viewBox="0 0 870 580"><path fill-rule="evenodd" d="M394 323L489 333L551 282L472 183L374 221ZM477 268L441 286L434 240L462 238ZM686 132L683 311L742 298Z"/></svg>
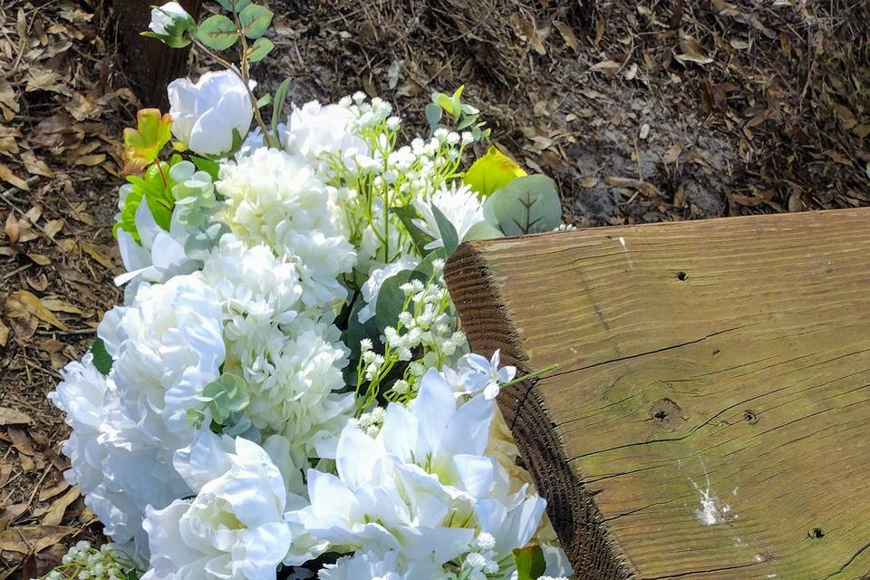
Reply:
<svg viewBox="0 0 870 580"><path fill-rule="evenodd" d="M422 219L414 219L414 225L433 238L426 245L426 249L444 247L432 206L439 208L444 217L453 224L459 241L465 238L472 226L483 221L483 202L467 185L457 188L454 183L450 188L439 189L430 198L418 197L414 199L414 208Z"/></svg>

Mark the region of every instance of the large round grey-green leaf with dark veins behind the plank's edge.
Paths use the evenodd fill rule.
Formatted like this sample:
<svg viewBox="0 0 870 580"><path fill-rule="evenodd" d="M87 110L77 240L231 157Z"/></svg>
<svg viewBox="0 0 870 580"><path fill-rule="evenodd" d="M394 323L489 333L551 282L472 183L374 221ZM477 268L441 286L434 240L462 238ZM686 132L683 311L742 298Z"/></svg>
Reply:
<svg viewBox="0 0 870 580"><path fill-rule="evenodd" d="M556 183L544 175L514 179L489 196L483 217L506 236L552 231L562 218Z"/></svg>

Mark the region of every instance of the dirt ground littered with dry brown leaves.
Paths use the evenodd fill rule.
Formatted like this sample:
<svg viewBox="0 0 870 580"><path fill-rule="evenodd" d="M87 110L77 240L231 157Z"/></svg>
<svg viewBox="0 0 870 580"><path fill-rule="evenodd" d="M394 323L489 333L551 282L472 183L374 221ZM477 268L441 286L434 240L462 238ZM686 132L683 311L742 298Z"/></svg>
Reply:
<svg viewBox="0 0 870 580"><path fill-rule="evenodd" d="M362 88L412 137L430 92L464 84L580 226L870 202L870 0L270 4L267 87ZM121 296L119 139L140 102L117 37L100 0L0 0L0 580L99 536L44 397Z"/></svg>

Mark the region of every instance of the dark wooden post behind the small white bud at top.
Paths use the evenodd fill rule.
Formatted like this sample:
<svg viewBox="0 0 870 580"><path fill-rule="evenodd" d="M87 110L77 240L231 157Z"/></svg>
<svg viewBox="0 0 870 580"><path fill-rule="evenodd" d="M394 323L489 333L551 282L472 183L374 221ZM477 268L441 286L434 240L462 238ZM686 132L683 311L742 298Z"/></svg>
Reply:
<svg viewBox="0 0 870 580"><path fill-rule="evenodd" d="M112 2L121 34L121 48L128 64L127 72L139 89L142 105L167 111L166 85L187 72L189 49L169 48L158 40L140 35L148 30L151 5L160 4L163 2ZM198 16L201 0L180 0L179 4L194 17Z"/></svg>

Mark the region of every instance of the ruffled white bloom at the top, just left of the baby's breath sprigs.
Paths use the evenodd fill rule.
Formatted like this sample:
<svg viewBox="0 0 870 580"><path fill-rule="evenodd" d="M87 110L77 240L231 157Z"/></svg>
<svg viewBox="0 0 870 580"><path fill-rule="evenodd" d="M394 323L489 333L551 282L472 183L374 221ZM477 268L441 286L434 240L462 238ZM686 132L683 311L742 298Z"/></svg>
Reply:
<svg viewBox="0 0 870 580"><path fill-rule="evenodd" d="M369 152L365 141L351 133L352 122L353 115L346 107L306 102L290 113L284 147L312 162L324 160L325 155L337 156L352 168L356 154Z"/></svg>

